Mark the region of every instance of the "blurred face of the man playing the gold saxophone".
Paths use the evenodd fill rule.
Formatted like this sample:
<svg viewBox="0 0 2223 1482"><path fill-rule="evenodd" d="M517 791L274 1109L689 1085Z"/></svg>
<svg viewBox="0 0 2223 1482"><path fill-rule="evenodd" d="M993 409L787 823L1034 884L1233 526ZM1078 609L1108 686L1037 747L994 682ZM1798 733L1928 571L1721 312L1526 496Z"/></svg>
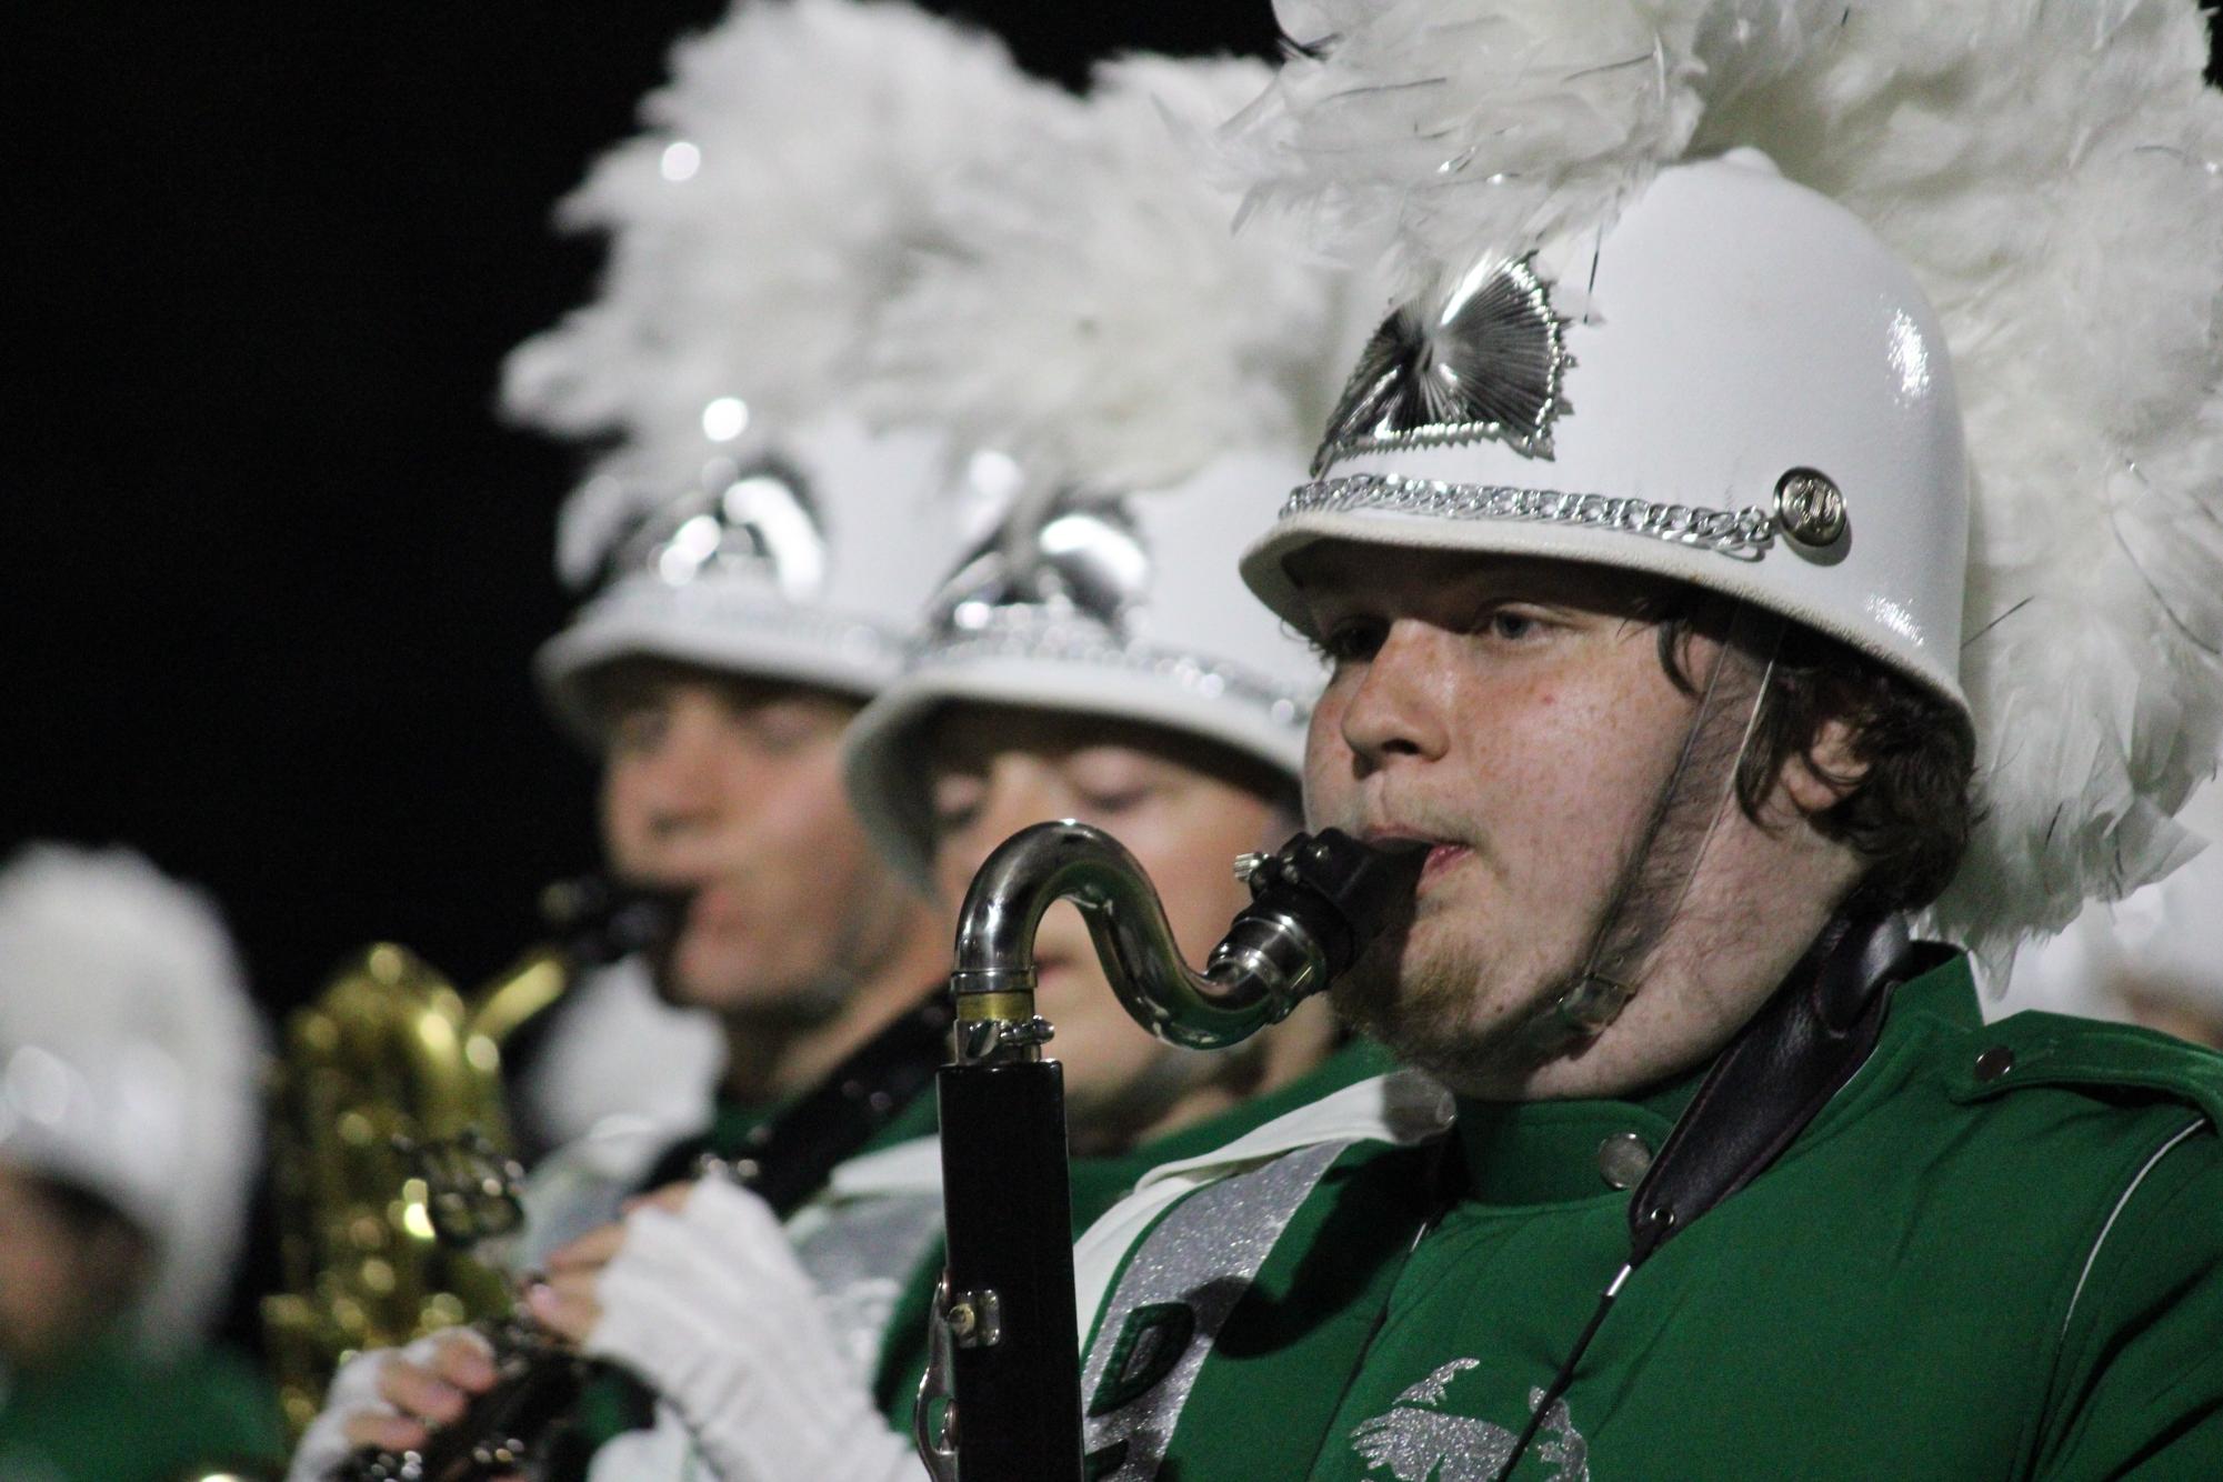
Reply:
<svg viewBox="0 0 2223 1482"><path fill-rule="evenodd" d="M625 880L691 891L680 1004L818 1022L900 949L909 898L840 787L858 702L629 660L598 680L602 840Z"/></svg>

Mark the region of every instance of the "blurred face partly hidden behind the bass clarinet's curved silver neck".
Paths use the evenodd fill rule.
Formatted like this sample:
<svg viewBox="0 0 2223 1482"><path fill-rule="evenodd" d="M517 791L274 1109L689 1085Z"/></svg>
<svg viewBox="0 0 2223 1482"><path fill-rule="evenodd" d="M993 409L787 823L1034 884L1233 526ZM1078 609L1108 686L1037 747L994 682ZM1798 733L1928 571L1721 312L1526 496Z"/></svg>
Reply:
<svg viewBox="0 0 2223 1482"><path fill-rule="evenodd" d="M943 711L929 740L936 818L934 882L965 898L996 844L1027 824L1078 818L1125 844L1165 902L1174 940L1200 967L1249 904L1238 853L1278 844L1294 829L1278 784L1163 729L987 704ZM1058 902L1036 938L1043 1015L1058 1027L1076 1129L1118 1140L1123 1118L1163 1111L1185 1051L1136 1024L1112 993L1080 911Z"/></svg>

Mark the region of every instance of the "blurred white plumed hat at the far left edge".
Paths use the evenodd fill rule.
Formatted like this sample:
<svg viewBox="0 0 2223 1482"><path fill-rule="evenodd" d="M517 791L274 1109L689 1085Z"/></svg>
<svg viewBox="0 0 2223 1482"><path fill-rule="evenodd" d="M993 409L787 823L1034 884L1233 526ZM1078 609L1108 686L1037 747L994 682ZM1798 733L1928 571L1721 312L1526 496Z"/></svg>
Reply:
<svg viewBox="0 0 2223 1482"><path fill-rule="evenodd" d="M220 1313L262 1142L262 1022L216 909L127 849L0 869L0 1162L147 1238L133 1311L173 1346Z"/></svg>

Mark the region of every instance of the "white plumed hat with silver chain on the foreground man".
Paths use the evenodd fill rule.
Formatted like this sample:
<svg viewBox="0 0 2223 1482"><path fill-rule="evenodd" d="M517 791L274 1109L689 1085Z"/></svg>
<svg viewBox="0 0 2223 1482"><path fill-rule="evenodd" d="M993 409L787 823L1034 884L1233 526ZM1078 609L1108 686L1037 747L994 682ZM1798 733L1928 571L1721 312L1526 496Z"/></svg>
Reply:
<svg viewBox="0 0 2223 1482"><path fill-rule="evenodd" d="M2194 849L2223 733L2223 102L2192 0L1305 0L1225 147L1407 309L1245 558L1556 555L1947 698L1983 951ZM1818 478L1816 478L1818 475ZM1963 531L1967 531L1963 535ZM1965 542L1965 549L1963 549Z"/></svg>

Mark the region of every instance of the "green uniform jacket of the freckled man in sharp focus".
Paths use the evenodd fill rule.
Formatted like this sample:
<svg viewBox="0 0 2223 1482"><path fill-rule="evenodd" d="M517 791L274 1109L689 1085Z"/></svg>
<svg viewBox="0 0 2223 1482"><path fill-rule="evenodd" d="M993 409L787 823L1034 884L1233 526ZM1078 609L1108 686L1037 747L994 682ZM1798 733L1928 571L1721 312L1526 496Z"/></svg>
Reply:
<svg viewBox="0 0 2223 1482"><path fill-rule="evenodd" d="M1214 1251L1272 1238L1276 1164L1187 1195L1098 1320L1091 1475L1494 1478L1627 1255L1601 1146L1656 1149L1694 1089L1314 1149L1218 1331ZM1790 1151L1627 1280L1514 1475L2223 1478L2219 1111L2223 1058L1987 1029L1965 960L1927 973ZM1200 1300L1138 1304L1167 1258Z"/></svg>

